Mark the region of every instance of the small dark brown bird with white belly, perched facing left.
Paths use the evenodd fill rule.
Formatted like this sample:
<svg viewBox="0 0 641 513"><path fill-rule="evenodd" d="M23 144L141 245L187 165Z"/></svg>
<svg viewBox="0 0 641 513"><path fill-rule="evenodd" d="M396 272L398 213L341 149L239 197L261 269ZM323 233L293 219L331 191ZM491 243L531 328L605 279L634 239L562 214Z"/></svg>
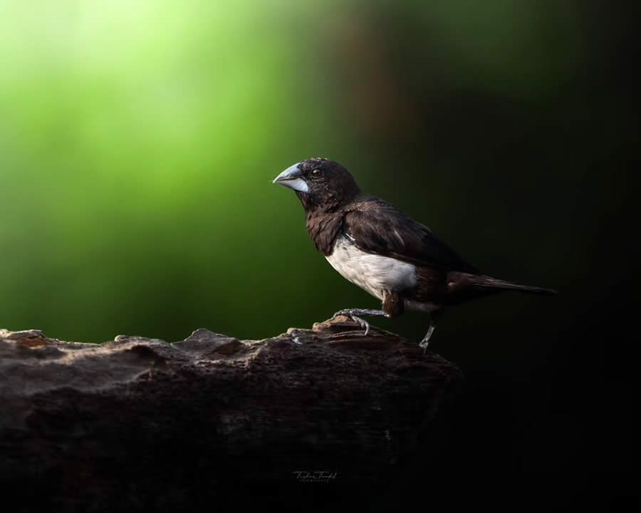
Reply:
<svg viewBox="0 0 641 513"><path fill-rule="evenodd" d="M501 291L557 294L481 274L437 239L428 227L393 205L361 191L338 162L311 158L281 172L273 183L296 191L306 212L307 231L336 271L382 301L382 310L343 309L365 329L360 316L395 317L421 311L429 328L419 346L427 348L434 317L445 306Z"/></svg>

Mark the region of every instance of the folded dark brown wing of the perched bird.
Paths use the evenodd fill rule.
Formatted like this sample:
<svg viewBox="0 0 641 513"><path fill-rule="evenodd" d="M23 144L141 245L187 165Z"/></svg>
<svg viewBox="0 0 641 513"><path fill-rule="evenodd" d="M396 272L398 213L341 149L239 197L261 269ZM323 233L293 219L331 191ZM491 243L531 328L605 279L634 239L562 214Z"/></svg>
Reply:
<svg viewBox="0 0 641 513"><path fill-rule="evenodd" d="M432 231L378 198L357 202L343 217L343 232L364 252L418 266L478 273Z"/></svg>

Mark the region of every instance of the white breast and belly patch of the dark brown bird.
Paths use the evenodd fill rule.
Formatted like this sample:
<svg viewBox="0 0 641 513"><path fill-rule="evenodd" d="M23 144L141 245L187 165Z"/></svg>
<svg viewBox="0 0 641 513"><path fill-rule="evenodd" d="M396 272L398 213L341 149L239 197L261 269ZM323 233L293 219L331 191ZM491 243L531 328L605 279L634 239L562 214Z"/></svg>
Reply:
<svg viewBox="0 0 641 513"><path fill-rule="evenodd" d="M346 237L338 237L332 254L325 258L343 277L380 300L385 292L402 291L417 284L412 264L365 253Z"/></svg>

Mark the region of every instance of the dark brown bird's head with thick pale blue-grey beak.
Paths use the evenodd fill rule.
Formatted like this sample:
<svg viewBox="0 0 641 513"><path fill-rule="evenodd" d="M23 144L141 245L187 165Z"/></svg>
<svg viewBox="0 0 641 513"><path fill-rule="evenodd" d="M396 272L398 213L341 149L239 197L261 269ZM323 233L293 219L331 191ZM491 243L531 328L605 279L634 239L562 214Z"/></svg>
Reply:
<svg viewBox="0 0 641 513"><path fill-rule="evenodd" d="M345 167L325 158L298 162L281 172L273 183L296 191L306 210L338 207L360 192Z"/></svg>

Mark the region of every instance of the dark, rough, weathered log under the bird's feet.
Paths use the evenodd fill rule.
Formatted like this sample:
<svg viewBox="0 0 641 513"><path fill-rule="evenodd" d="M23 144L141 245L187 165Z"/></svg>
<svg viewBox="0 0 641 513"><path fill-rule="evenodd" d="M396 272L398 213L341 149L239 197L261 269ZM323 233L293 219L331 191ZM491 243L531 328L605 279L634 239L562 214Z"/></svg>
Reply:
<svg viewBox="0 0 641 513"><path fill-rule="evenodd" d="M0 330L0 482L17 511L160 511L315 482L353 493L411 458L461 380L346 318L261 341Z"/></svg>

